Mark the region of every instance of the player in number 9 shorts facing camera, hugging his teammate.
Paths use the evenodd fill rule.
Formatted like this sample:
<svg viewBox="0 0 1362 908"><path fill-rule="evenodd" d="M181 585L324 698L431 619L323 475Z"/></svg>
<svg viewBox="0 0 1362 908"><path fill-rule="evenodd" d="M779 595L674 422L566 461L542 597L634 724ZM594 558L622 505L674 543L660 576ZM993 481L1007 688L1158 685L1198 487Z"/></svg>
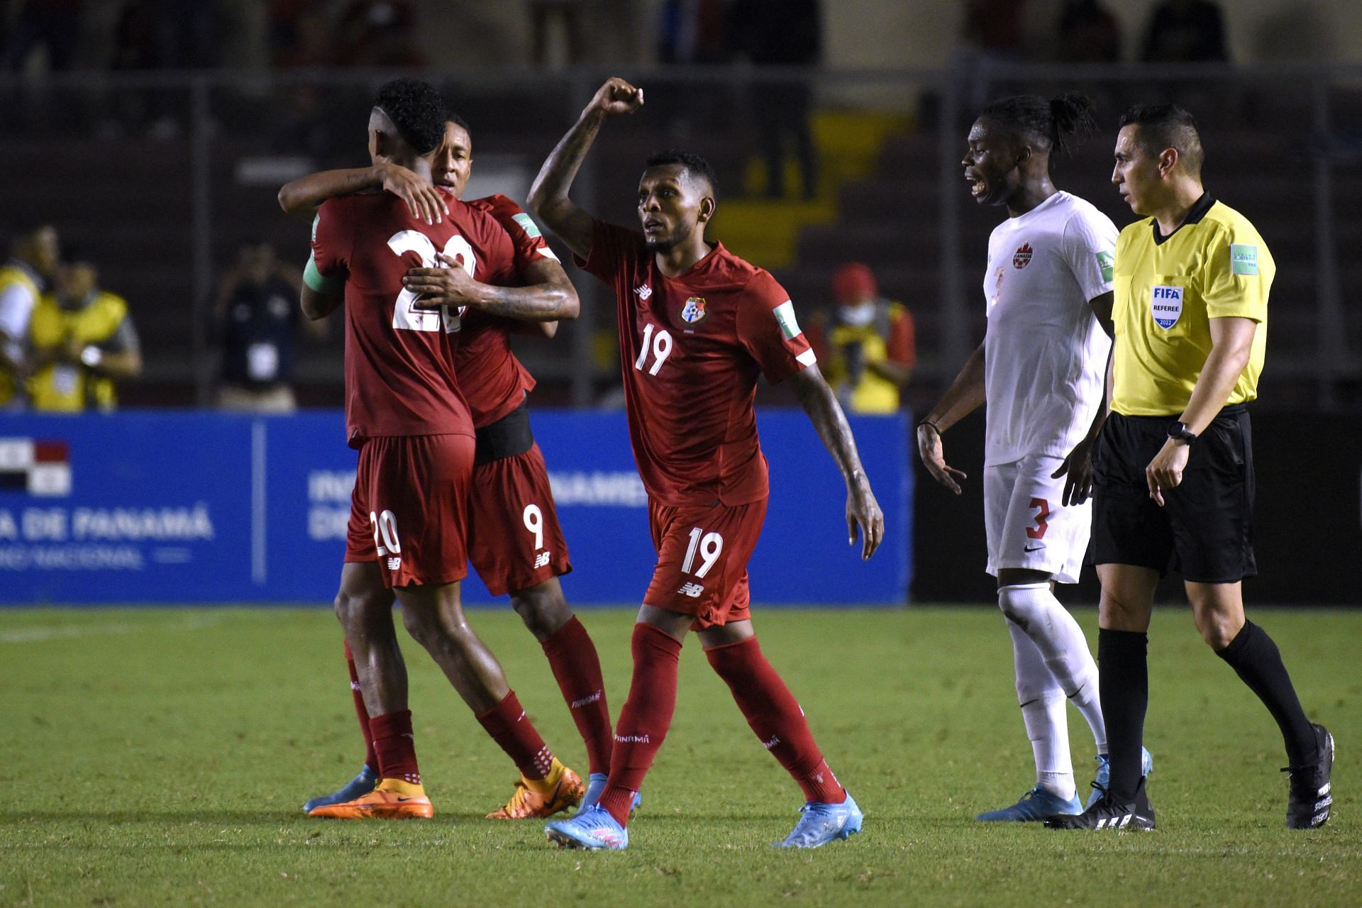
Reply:
<svg viewBox="0 0 1362 908"><path fill-rule="evenodd" d="M471 163L467 125L454 117L445 123L444 142L432 166L434 185L406 167L380 162L296 180L279 191L279 204L289 214L312 218L328 199L383 189L406 201L417 219L434 223L437 216L448 214L444 196L434 187L459 199ZM455 347L455 374L473 412L478 451L469 513L469 560L493 595L509 592L512 607L543 648L586 742L591 773L586 800L594 803L610 766L610 712L595 645L572 614L558 584L558 577L572 566L543 455L530 432L526 400L535 383L509 344L509 335L515 332L542 329L552 336L557 321L524 319L575 319L577 297L539 229L515 201L497 195L467 204L488 211L505 227L516 248L518 272L526 285L539 289L537 298L527 299L523 294L511 299L489 298L501 295L500 289L478 285L456 267L414 268L405 280L409 290L421 294L424 304L469 306ZM519 313L522 319L497 314L507 312ZM381 585L373 595L391 602L391 592ZM346 662L353 685L354 660L349 649ZM304 805L304 813L353 800L376 784L369 716L358 692L354 701L366 742L365 765L340 790ZM548 817L582 794L577 788L542 791L535 781L534 777L522 779L511 800L489 815L498 820Z"/></svg>

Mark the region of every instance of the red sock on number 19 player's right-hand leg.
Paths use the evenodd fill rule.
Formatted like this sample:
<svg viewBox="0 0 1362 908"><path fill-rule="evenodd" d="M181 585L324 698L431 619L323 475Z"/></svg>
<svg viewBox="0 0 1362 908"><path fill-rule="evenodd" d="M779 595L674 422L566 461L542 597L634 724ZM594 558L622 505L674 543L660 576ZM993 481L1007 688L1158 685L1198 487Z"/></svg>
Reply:
<svg viewBox="0 0 1362 908"><path fill-rule="evenodd" d="M761 655L757 638L706 649L704 655L729 685L752 731L799 783L805 799L831 805L846 800L846 790L823 760L799 702Z"/></svg>

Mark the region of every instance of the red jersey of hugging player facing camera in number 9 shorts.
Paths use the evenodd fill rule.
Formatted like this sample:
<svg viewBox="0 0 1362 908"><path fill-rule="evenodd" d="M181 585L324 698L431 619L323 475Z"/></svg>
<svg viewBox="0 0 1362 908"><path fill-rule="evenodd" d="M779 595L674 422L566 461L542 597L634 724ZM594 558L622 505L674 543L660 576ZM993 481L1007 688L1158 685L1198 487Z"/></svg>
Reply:
<svg viewBox="0 0 1362 908"><path fill-rule="evenodd" d="M505 227L515 246L518 274L523 275L537 259L557 261L539 227L511 199L503 195L488 196L474 199L469 207L486 211ZM463 313L463 328L454 350L454 370L459 376L469 410L473 411L473 425L478 429L509 414L534 389L534 376L511 351L511 332L523 329L523 324L473 309Z"/></svg>

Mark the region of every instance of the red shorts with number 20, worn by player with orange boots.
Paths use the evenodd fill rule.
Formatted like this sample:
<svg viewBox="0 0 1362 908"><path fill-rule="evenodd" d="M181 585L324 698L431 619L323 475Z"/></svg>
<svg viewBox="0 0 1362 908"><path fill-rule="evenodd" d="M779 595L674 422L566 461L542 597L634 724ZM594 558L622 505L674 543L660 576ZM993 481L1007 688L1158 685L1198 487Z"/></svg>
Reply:
<svg viewBox="0 0 1362 908"><path fill-rule="evenodd" d="M377 561L388 587L469 574L471 436L380 436L360 448L346 561Z"/></svg>

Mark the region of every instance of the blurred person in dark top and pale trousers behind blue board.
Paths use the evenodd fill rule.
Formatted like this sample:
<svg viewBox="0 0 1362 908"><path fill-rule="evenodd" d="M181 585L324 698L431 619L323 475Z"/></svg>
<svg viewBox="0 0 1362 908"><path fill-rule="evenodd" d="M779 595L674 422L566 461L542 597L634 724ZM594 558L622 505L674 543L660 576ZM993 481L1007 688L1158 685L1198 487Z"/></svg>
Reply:
<svg viewBox="0 0 1362 908"><path fill-rule="evenodd" d="M214 313L222 344L218 406L247 412L293 412L293 342L301 319L302 274L282 264L268 242L241 246L222 278ZM306 323L326 334L326 323Z"/></svg>

